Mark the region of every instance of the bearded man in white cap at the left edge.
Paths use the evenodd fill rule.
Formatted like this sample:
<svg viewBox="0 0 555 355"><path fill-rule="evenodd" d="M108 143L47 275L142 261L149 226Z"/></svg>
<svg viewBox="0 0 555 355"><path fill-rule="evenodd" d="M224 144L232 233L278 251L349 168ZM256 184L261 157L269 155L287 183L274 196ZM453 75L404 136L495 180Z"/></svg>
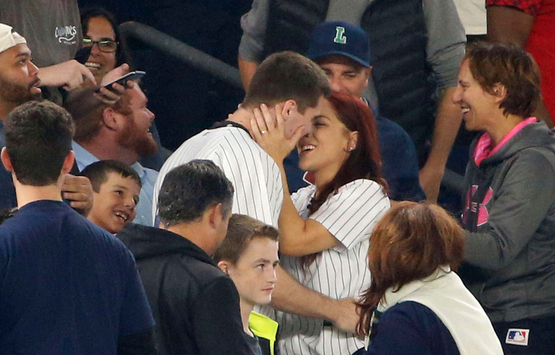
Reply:
<svg viewBox="0 0 555 355"><path fill-rule="evenodd" d="M39 69L31 61L27 41L12 27L0 23L0 147L6 146L3 121L15 107L41 97ZM92 207L92 186L86 177L66 176L64 198L83 214ZM0 167L0 209L17 205L12 174Z"/></svg>

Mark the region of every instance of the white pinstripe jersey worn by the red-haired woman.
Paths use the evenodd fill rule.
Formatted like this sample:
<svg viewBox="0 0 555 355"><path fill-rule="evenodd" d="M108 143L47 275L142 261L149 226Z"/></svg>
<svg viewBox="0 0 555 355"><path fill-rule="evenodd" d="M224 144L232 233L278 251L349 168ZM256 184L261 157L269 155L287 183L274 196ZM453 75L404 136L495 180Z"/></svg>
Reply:
<svg viewBox="0 0 555 355"><path fill-rule="evenodd" d="M340 244L324 250L306 272L299 258L282 255L280 264L301 284L332 299L359 297L370 286L367 252L374 225L390 208L382 187L369 179L357 179L340 187L310 215L307 206L316 187L299 189L291 195L301 217L320 222ZM279 351L292 354L352 354L364 342L316 318L291 315L263 307L261 311L279 322Z"/></svg>

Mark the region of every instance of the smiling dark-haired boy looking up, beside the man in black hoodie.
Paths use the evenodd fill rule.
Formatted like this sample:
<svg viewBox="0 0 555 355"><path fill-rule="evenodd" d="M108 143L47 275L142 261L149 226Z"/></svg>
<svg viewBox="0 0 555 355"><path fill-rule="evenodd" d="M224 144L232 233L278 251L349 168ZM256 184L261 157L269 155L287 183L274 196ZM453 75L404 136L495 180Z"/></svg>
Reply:
<svg viewBox="0 0 555 355"><path fill-rule="evenodd" d="M93 208L87 218L112 234L137 215L141 182L139 174L117 160L101 160L80 173L93 186Z"/></svg>

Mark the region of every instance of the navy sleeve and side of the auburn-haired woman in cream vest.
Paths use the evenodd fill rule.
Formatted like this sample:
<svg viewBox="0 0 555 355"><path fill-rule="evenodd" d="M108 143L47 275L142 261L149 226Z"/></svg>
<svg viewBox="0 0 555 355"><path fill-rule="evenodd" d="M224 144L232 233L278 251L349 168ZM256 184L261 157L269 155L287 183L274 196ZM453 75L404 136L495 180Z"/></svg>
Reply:
<svg viewBox="0 0 555 355"><path fill-rule="evenodd" d="M356 355L459 355L447 327L430 308L418 302L401 302L381 315L372 328L368 351Z"/></svg>

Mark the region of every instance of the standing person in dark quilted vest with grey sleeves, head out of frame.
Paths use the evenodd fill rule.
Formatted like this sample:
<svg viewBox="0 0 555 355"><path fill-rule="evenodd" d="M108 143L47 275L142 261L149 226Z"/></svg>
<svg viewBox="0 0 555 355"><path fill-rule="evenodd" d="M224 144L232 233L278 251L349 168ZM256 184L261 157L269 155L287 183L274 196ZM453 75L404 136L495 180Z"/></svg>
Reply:
<svg viewBox="0 0 555 355"><path fill-rule="evenodd" d="M254 0L241 18L238 61L245 88L267 55L282 50L306 53L312 30L326 20L343 20L368 34L374 69L365 97L410 135L421 186L426 198L436 201L462 119L451 101L466 42L455 3Z"/></svg>

